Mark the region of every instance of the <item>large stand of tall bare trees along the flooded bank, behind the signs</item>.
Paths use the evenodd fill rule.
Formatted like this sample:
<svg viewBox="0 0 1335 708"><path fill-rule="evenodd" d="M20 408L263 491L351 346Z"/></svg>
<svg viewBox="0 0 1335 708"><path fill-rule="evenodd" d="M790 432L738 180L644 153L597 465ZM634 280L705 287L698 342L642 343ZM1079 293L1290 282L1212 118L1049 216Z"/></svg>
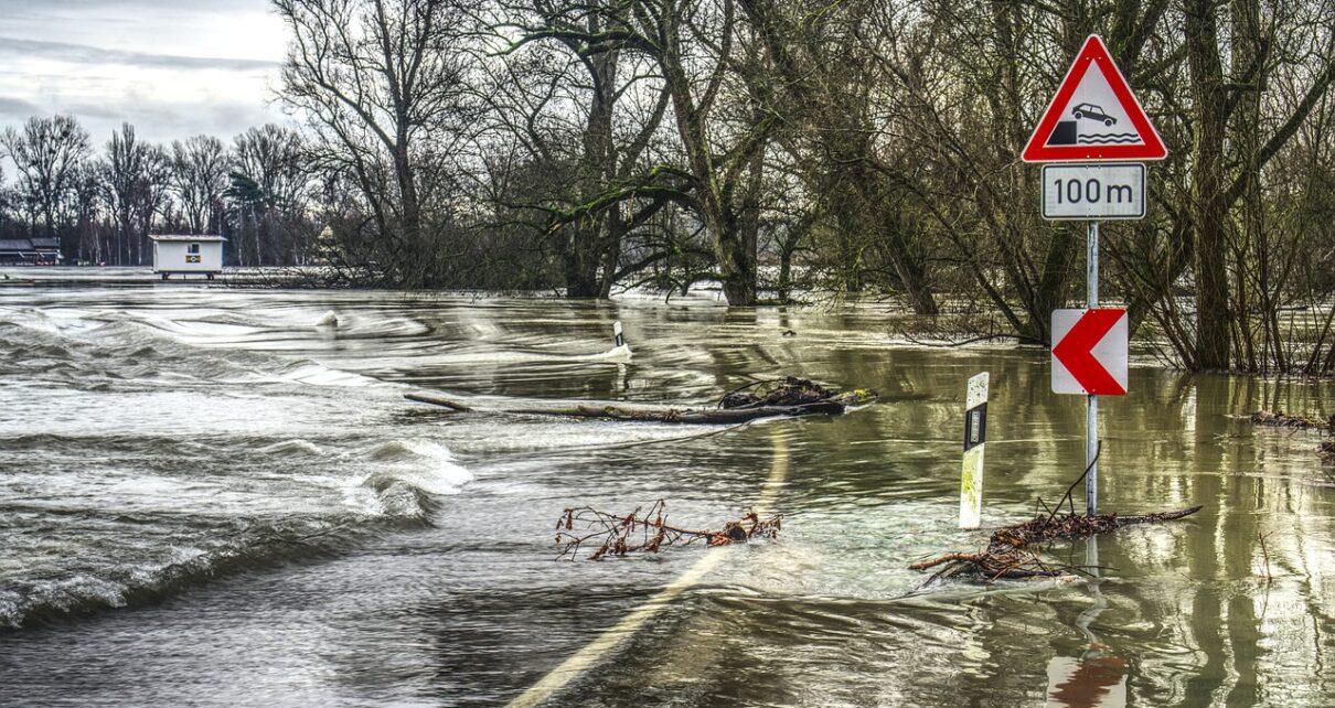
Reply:
<svg viewBox="0 0 1335 708"><path fill-rule="evenodd" d="M1084 228L1040 217L1019 153L1100 33L1171 152L1149 217L1104 228L1105 297L1187 368L1335 372L1330 0L274 7L303 188L271 197L238 164L211 195L230 224L250 179L306 224L291 243L327 225L331 277L570 297L717 280L737 305L884 296L1031 341L1081 299ZM33 204L25 223L61 228Z"/></svg>

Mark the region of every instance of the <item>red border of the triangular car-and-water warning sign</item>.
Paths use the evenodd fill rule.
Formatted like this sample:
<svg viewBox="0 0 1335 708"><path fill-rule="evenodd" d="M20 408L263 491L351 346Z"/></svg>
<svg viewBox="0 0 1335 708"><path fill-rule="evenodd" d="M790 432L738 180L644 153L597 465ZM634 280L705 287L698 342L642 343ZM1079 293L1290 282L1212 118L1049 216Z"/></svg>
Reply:
<svg viewBox="0 0 1335 708"><path fill-rule="evenodd" d="M1085 73L1093 65L1097 65L1104 79L1108 80L1108 87L1112 88L1113 95L1121 103L1121 109L1127 112L1131 124L1140 133L1140 139L1144 141L1143 145L1047 145L1048 136L1052 135L1052 129L1061 120L1061 109L1065 108L1071 100L1071 95L1080 85L1080 80L1084 79ZM1076 73L1077 69L1079 75ZM1159 131L1149 123L1149 116L1145 115L1144 108L1140 107L1140 101L1131 92L1131 87L1127 85L1127 77L1121 75L1121 69L1112 60L1108 47L1099 35L1089 35L1084 47L1080 48L1076 60L1067 69L1065 79L1061 80L1056 95L1052 96L1052 101L1048 103L1048 108L1043 112L1043 119L1039 120L1039 125L1024 145L1024 152L1020 153L1020 159L1025 163L1163 160L1167 156L1168 148L1164 147L1163 139L1159 137Z"/></svg>

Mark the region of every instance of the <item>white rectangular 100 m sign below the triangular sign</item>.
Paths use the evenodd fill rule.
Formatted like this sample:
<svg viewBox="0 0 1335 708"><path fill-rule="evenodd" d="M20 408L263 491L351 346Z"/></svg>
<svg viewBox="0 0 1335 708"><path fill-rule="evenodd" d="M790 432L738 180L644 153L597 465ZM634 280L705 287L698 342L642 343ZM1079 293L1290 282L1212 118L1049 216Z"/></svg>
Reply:
<svg viewBox="0 0 1335 708"><path fill-rule="evenodd" d="M1043 165L1044 219L1144 219L1145 165Z"/></svg>

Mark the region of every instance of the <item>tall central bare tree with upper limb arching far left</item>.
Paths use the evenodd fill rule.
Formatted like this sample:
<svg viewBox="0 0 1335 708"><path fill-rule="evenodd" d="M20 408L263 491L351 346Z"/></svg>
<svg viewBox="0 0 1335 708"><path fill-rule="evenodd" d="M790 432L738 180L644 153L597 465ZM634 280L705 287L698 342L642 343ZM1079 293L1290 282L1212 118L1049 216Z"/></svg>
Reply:
<svg viewBox="0 0 1335 708"><path fill-rule="evenodd" d="M555 39L581 56L615 49L657 64L684 151L681 167L661 172L689 181L674 199L709 233L728 301L756 304L760 189L774 115L760 44L733 0L570 5L522 29L521 41Z"/></svg>

